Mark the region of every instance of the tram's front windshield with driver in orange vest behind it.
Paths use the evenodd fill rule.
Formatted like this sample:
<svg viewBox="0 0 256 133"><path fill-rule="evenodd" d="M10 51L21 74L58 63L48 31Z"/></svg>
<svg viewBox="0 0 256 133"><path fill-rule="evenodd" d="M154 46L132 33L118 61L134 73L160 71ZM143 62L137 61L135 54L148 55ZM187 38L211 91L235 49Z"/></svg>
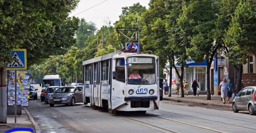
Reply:
<svg viewBox="0 0 256 133"><path fill-rule="evenodd" d="M156 83L155 58L128 57L127 77L130 85L151 85Z"/></svg>

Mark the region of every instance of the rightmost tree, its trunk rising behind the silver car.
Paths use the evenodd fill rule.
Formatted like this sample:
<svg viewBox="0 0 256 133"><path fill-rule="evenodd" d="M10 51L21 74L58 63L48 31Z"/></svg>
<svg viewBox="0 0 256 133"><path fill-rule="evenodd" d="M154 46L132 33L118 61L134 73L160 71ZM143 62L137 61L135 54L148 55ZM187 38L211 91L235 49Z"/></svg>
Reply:
<svg viewBox="0 0 256 133"><path fill-rule="evenodd" d="M225 45L229 48L226 54L229 61L238 65L237 90L238 93L242 78L242 65L246 64L248 57L255 53L256 46L256 7L253 1L240 1L232 16L230 27L226 30Z"/></svg>

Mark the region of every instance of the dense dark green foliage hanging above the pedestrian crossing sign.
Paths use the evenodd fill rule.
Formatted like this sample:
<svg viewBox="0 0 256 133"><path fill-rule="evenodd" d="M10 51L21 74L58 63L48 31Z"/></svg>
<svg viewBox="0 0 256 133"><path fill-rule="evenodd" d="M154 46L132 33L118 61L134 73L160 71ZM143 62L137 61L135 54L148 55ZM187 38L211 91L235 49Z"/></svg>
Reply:
<svg viewBox="0 0 256 133"><path fill-rule="evenodd" d="M13 48L26 48L28 65L63 54L75 43L79 20L68 14L78 0L1 0L0 66L11 62Z"/></svg>

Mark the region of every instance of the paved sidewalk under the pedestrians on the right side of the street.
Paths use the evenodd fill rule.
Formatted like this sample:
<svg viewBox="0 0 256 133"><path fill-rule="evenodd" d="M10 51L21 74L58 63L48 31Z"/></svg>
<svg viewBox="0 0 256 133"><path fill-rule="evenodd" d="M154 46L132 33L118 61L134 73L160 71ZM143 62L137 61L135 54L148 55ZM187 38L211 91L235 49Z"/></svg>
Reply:
<svg viewBox="0 0 256 133"><path fill-rule="evenodd" d="M207 95L199 95L199 96L188 95L188 96L185 96L184 98L181 98L181 95L177 95L177 94L172 94L172 97L168 97L168 95L163 95L163 100L232 108L231 98L230 98L229 104L227 100L226 100L226 104L222 103L221 95L211 95L211 100L206 100L206 99L207 99Z"/></svg>

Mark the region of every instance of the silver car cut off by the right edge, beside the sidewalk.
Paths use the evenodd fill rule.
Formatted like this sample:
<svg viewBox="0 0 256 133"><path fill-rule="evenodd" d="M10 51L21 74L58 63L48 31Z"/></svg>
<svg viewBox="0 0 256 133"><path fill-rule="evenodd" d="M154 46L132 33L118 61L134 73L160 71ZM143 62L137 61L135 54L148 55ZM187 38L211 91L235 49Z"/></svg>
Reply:
<svg viewBox="0 0 256 133"><path fill-rule="evenodd" d="M232 108L234 113L240 110L248 110L250 115L256 114L256 86L243 88L233 100Z"/></svg>

